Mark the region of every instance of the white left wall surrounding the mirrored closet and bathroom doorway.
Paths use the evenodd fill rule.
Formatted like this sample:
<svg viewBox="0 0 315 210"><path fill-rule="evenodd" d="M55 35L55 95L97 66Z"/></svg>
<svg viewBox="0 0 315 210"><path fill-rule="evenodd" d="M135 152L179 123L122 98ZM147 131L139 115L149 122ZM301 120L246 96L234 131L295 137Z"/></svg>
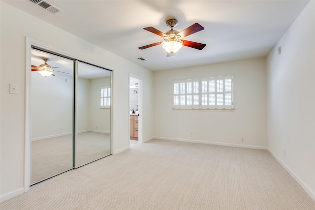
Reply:
<svg viewBox="0 0 315 210"><path fill-rule="evenodd" d="M48 14L49 15L49 14ZM25 37L43 42L85 60L114 69L114 153L129 147L128 73L143 78L143 138L153 131L153 73L104 49L58 29L0 1L0 195L1 200L23 191L25 133ZM45 31L39 32L38 29ZM9 84L19 94L9 94Z"/></svg>

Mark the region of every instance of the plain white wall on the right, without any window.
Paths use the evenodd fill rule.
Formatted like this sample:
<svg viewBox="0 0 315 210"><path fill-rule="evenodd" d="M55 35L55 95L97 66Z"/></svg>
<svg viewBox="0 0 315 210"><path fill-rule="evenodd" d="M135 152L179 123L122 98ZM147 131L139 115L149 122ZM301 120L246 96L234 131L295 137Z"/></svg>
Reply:
<svg viewBox="0 0 315 210"><path fill-rule="evenodd" d="M267 57L267 87L268 148L315 199L315 1Z"/></svg>

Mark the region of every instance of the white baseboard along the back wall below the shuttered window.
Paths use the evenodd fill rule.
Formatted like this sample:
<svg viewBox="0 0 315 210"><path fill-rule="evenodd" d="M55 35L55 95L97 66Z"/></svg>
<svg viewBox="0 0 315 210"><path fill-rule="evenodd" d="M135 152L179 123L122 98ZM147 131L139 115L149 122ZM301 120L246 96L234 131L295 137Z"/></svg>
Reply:
<svg viewBox="0 0 315 210"><path fill-rule="evenodd" d="M170 141L191 142L191 143L201 143L201 144L209 144L209 145L221 145L221 146L228 146L228 147L267 150L267 147L261 147L261 146L240 145L240 144L230 144L230 143L221 143L221 142L207 142L207 141L191 140L191 139L177 139L177 138L167 138L167 137L159 137L159 136L154 136L152 139L162 139L162 140L170 140Z"/></svg>

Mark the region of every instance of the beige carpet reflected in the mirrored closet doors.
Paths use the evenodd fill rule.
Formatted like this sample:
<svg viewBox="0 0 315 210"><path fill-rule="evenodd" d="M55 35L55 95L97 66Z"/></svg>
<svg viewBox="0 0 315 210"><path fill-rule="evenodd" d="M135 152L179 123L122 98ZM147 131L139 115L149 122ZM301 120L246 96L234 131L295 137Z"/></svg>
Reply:
<svg viewBox="0 0 315 210"><path fill-rule="evenodd" d="M110 154L110 134L78 134L78 166ZM32 141L32 183L73 168L72 135Z"/></svg>

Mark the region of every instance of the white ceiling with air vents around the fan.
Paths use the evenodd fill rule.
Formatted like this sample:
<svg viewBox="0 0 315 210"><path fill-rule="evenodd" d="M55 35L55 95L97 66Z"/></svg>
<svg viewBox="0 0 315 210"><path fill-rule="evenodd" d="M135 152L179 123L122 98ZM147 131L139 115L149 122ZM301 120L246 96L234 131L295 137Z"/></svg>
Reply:
<svg viewBox="0 0 315 210"><path fill-rule="evenodd" d="M309 0L48 0L63 12L53 15L29 0L2 0L120 57L156 71L266 57ZM199 51L183 47L166 58L163 41L143 30L182 31L194 23L205 29L185 37L204 43ZM37 27L37 30L40 26ZM137 58L143 57L147 61Z"/></svg>

